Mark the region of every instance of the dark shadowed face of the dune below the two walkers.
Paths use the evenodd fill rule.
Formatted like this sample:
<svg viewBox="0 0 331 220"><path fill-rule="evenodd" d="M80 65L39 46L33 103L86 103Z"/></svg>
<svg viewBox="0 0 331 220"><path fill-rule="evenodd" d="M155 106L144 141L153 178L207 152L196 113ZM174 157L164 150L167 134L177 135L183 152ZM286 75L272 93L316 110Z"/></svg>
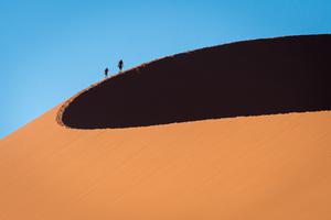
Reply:
<svg viewBox="0 0 331 220"><path fill-rule="evenodd" d="M239 42L152 62L76 97L62 121L128 128L331 109L331 35Z"/></svg>

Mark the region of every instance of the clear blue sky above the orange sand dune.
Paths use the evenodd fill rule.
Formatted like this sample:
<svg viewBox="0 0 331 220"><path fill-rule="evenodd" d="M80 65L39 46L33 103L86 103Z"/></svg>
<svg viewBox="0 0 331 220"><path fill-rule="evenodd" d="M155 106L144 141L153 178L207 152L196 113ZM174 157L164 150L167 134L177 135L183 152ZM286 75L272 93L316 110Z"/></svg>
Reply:
<svg viewBox="0 0 331 220"><path fill-rule="evenodd" d="M0 0L0 138L103 78L233 41L331 33L330 0Z"/></svg>

